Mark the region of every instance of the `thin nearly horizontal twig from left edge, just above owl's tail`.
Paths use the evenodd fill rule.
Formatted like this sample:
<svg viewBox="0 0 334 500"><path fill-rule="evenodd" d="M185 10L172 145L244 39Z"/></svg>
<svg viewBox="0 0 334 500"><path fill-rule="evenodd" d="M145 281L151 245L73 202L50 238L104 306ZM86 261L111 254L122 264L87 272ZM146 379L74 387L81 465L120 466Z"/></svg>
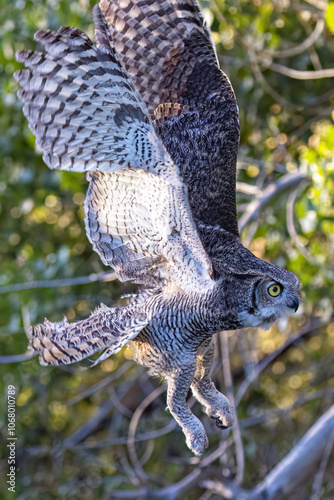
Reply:
<svg viewBox="0 0 334 500"><path fill-rule="evenodd" d="M116 273L103 271L100 273L89 274L88 276L79 276L77 278L61 278L56 280L37 280L26 281L25 283L15 283L0 287L0 295L4 293L22 292L23 290L32 290L34 288L58 288L60 286L85 285L95 281L114 281L117 279Z"/></svg>

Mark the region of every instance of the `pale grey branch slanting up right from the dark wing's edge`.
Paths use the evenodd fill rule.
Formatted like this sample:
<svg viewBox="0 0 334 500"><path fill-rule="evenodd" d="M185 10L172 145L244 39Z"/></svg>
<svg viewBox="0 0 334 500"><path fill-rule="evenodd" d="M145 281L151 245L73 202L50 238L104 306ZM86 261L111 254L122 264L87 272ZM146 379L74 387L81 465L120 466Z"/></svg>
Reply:
<svg viewBox="0 0 334 500"><path fill-rule="evenodd" d="M305 176L300 172L292 172L281 177L277 182L269 184L260 195L256 196L253 201L248 205L247 211L241 216L239 220L240 232L245 226L258 216L259 211L263 208L274 196L279 192L288 189L295 184L299 184Z"/></svg>

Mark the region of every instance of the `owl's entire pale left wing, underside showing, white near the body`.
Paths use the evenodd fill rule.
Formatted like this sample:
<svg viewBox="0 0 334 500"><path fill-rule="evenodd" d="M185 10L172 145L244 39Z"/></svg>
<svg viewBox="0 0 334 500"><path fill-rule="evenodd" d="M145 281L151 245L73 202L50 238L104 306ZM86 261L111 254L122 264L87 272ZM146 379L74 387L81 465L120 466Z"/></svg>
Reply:
<svg viewBox="0 0 334 500"><path fill-rule="evenodd" d="M44 53L18 53L29 126L50 168L88 172L88 237L120 279L140 282L153 266L186 292L211 288L185 185L95 17L97 47L61 28L35 35Z"/></svg>

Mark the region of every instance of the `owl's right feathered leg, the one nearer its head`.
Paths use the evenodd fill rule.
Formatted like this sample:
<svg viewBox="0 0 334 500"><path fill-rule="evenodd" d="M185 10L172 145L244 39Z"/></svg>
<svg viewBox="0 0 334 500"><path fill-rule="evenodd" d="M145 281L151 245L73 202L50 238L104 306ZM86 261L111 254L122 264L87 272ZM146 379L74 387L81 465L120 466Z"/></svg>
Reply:
<svg viewBox="0 0 334 500"><path fill-rule="evenodd" d="M216 419L220 429L233 425L234 411L229 400L219 392L210 377L210 369L214 356L212 338L205 340L197 350L196 371L191 384L195 398L205 406L209 417Z"/></svg>

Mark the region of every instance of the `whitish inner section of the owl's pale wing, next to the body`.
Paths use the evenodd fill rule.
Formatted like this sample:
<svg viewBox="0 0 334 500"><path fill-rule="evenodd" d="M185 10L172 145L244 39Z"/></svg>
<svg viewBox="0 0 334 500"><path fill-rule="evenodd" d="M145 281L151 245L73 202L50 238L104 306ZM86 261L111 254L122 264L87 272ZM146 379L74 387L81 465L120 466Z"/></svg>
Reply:
<svg viewBox="0 0 334 500"><path fill-rule="evenodd" d="M87 235L121 280L135 274L137 282L148 284L152 278L172 279L185 291L212 286L210 264L201 266L204 250L196 247L195 229L188 224L182 187L135 169L92 172L89 180Z"/></svg>

